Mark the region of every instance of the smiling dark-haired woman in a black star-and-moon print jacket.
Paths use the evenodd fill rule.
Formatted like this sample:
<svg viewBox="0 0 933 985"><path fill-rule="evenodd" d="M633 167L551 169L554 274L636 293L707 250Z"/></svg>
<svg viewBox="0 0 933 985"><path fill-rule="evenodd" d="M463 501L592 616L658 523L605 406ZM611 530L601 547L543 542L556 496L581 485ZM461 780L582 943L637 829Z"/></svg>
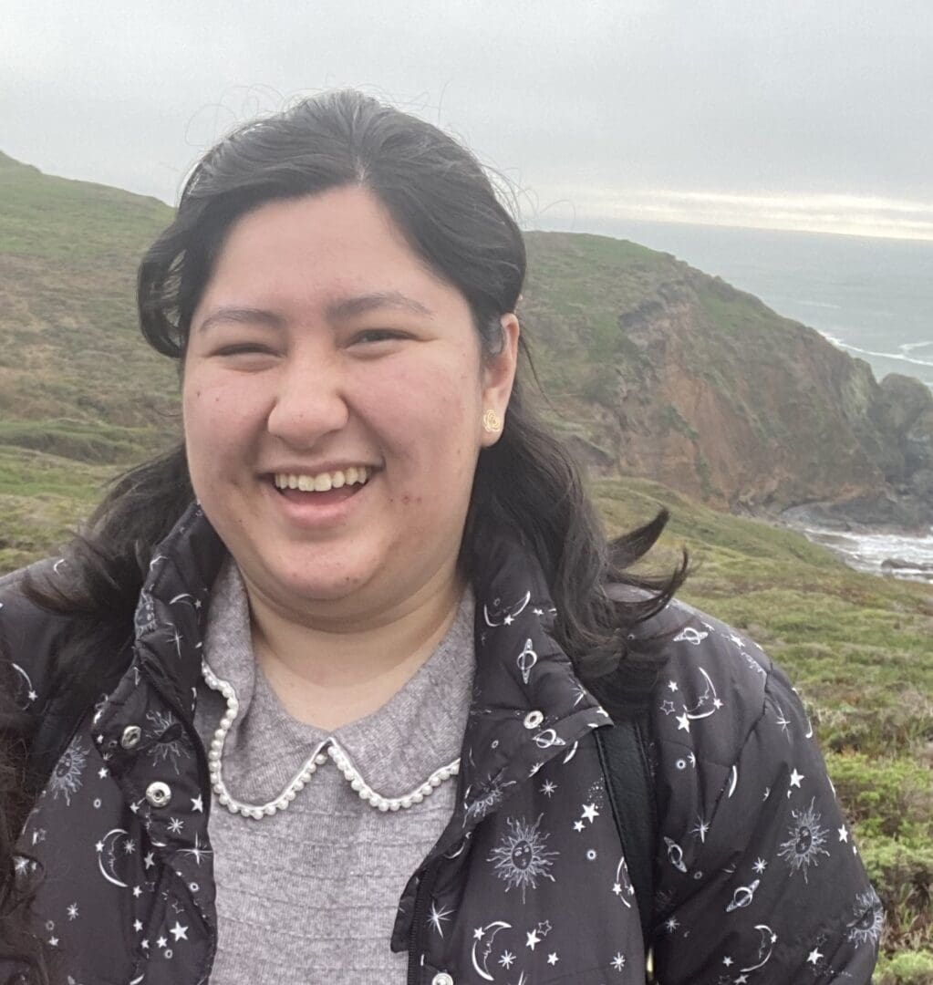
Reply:
<svg viewBox="0 0 933 985"><path fill-rule="evenodd" d="M639 706L659 980L869 980L799 701L625 573L664 516L609 558L523 275L472 156L358 94L198 164L139 277L184 446L0 589L11 980L641 982L594 738Z"/></svg>

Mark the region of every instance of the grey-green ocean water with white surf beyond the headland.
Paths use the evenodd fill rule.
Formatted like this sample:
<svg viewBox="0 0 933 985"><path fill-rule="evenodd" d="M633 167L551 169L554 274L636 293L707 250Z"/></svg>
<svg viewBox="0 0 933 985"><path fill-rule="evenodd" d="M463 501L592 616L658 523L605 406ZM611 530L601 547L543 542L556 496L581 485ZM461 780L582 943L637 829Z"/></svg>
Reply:
<svg viewBox="0 0 933 985"><path fill-rule="evenodd" d="M933 389L933 242L623 221L586 231L673 253L817 329L877 379L898 372ZM853 567L933 584L933 527L923 537L805 532Z"/></svg>

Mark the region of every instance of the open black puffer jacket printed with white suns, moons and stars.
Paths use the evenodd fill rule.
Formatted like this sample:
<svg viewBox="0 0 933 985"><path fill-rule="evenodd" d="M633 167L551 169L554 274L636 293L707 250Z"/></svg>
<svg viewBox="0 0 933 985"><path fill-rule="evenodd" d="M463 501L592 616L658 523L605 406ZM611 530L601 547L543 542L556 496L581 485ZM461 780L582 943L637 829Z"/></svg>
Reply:
<svg viewBox="0 0 933 985"><path fill-rule="evenodd" d="M63 737L23 830L16 868L37 881L35 932L68 985L211 980L212 792L192 716L224 557L193 506L152 558L122 678ZM611 718L552 637L535 558L502 535L474 591L456 808L386 947L408 952L411 985L642 983L638 908L593 738ZM41 716L68 620L33 607L15 577L0 604L18 700ZM868 983L881 906L797 695L714 619L671 604L638 629L659 631L670 642L651 699L657 981Z"/></svg>

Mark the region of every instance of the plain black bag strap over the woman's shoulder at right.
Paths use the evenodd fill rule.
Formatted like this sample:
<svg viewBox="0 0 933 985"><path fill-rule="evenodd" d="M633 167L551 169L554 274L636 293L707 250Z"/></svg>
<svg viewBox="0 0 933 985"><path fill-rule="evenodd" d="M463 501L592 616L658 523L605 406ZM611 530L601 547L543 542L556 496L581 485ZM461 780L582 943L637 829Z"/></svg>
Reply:
<svg viewBox="0 0 933 985"><path fill-rule="evenodd" d="M657 807L645 749L646 715L623 718L593 733L613 819L635 890L645 953L651 945Z"/></svg>

